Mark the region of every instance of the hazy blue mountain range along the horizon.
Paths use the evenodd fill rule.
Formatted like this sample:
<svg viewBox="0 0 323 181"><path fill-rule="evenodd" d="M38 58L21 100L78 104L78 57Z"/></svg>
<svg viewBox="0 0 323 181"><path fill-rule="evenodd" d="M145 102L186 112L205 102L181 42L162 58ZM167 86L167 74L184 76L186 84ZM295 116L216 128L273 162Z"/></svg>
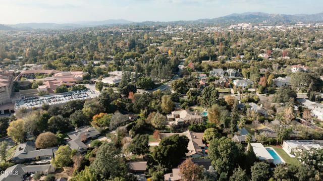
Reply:
<svg viewBox="0 0 323 181"><path fill-rule="evenodd" d="M267 23L271 25L276 24L293 24L297 22L323 22L323 13L317 14L298 14L298 15L285 15L285 14L267 14L267 13L241 13L231 14L219 18L213 19L199 19L195 21L173 21L173 22L137 22L136 24L159 24L159 23L206 23L206 24L235 24L235 23ZM70 29L70 28L84 28L84 27L95 27L105 25L117 25L117 24L131 24L135 23L128 20L105 20L105 21L80 21L75 23L20 23L15 25L0 25L0 30L32 30L32 29Z"/></svg>

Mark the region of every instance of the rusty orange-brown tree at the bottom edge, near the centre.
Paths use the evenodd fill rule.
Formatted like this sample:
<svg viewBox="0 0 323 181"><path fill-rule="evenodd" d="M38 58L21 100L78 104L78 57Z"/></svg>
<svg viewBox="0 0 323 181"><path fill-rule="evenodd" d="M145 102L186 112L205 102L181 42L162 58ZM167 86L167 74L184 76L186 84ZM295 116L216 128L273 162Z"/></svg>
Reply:
<svg viewBox="0 0 323 181"><path fill-rule="evenodd" d="M186 159L178 166L179 173L183 181L198 180L202 177L202 169L197 164L193 163L191 159Z"/></svg>

